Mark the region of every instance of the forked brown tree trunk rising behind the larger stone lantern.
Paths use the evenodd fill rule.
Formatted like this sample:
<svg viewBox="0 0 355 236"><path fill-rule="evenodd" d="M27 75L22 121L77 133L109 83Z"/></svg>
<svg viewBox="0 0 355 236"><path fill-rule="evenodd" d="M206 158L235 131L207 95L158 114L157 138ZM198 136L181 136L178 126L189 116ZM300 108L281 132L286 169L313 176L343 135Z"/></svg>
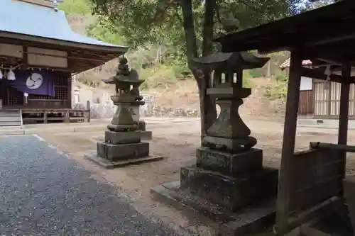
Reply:
<svg viewBox="0 0 355 236"><path fill-rule="evenodd" d="M194 67L193 57L197 57L197 40L195 26L193 21L192 0L182 0L181 3L182 16L184 21L185 40L187 46L187 62L194 75L200 96L200 113L201 113L201 138L204 137L206 131L211 127L217 117L216 103L207 95L206 91L212 86L211 72L202 72ZM214 9L216 0L207 0L205 2L204 13L204 30L202 55L210 55L212 53L212 38L214 25Z"/></svg>

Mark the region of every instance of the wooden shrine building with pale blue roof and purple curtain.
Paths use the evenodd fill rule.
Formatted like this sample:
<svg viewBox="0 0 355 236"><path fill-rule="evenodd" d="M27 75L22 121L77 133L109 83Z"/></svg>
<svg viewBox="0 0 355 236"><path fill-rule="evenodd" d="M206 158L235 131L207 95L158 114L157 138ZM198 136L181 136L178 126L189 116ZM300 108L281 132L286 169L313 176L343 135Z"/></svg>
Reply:
<svg viewBox="0 0 355 236"><path fill-rule="evenodd" d="M98 67L128 50L73 32L65 13L51 0L1 0L0 9L4 9L0 22L1 111L21 111L25 122L46 122L51 114L48 120L63 120L76 113L72 110L72 74ZM45 71L55 77L53 93L21 90L13 85L16 81L6 79L10 71L41 74L43 83Z"/></svg>

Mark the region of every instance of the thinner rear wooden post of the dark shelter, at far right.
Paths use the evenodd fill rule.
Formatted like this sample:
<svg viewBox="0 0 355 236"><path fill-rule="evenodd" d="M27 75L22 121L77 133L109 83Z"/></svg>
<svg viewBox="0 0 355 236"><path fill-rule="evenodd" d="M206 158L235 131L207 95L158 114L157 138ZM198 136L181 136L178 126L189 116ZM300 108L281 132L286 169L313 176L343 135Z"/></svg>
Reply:
<svg viewBox="0 0 355 236"><path fill-rule="evenodd" d="M348 140L348 120L349 120L349 96L351 77L351 64L346 63L342 65L342 87L340 89L340 108L339 108L339 130L338 130L338 144L346 145ZM343 153L344 169L343 179L346 171L346 152Z"/></svg>

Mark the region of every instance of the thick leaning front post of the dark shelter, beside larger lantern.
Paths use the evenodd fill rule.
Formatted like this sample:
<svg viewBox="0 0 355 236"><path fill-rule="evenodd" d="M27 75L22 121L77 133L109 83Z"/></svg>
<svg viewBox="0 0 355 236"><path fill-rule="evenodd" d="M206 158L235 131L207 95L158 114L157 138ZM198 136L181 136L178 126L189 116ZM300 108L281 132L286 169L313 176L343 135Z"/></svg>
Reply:
<svg viewBox="0 0 355 236"><path fill-rule="evenodd" d="M276 206L275 232L278 235L288 232L290 194L293 188L293 154L295 152L298 104L300 103L301 69L302 57L295 51L291 52L285 124L283 128L283 150L281 154Z"/></svg>

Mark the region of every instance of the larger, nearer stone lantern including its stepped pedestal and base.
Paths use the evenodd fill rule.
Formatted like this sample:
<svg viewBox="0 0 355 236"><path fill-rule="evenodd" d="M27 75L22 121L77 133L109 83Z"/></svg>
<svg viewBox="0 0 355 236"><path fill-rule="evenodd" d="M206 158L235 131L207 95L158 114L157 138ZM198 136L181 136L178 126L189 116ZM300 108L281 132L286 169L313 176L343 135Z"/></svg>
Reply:
<svg viewBox="0 0 355 236"><path fill-rule="evenodd" d="M217 52L195 60L195 67L213 72L214 86L207 89L207 94L216 99L221 112L202 138L196 164L181 168L180 181L152 189L160 199L172 201L173 198L208 215L216 213L208 206L218 206L223 214L239 218L235 214L241 208L275 196L278 170L263 167L263 150L253 148L257 140L251 137L251 130L238 111L243 99L251 94L251 89L243 87L243 70L263 67L268 60L249 52ZM196 199L203 201L204 206ZM247 221L261 222L263 214L274 210L266 209L269 211L262 214L256 209ZM233 227L239 227L239 222L236 220Z"/></svg>

